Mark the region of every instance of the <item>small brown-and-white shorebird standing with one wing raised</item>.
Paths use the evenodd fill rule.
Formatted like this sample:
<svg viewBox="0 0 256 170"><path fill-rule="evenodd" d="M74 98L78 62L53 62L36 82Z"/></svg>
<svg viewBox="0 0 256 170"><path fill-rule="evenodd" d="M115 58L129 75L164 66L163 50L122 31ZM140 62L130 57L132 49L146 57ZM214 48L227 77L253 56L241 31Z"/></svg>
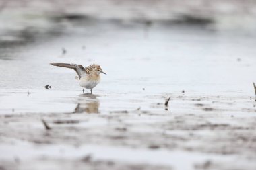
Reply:
<svg viewBox="0 0 256 170"><path fill-rule="evenodd" d="M90 65L88 67L83 67L82 65L75 65L75 64L67 64L67 63L50 63L50 65L58 66L58 67L67 67L70 69L74 69L77 73L79 79L79 85L86 89L92 89L100 83L100 73L104 73L100 67L100 65ZM84 92L83 88L83 92Z"/></svg>

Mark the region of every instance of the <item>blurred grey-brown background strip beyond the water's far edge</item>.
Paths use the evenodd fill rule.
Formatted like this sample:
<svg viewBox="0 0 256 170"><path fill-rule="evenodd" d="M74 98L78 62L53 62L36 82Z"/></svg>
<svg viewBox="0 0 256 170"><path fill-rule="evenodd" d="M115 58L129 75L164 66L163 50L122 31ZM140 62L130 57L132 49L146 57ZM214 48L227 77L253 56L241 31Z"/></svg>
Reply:
<svg viewBox="0 0 256 170"><path fill-rule="evenodd" d="M1 41L13 33L47 32L56 19L111 19L121 22L171 22L203 24L209 29L255 34L256 1L253 0L1 0ZM52 29L52 28L51 28ZM16 37L17 38L17 37Z"/></svg>

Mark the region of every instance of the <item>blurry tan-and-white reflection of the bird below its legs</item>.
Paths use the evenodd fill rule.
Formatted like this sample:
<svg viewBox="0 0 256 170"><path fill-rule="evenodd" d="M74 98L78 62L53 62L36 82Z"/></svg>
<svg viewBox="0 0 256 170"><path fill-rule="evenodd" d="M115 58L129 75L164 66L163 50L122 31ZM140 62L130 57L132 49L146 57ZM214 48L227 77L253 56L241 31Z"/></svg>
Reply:
<svg viewBox="0 0 256 170"><path fill-rule="evenodd" d="M99 100L97 99L96 95L91 93L85 93L79 95L77 106L73 113L88 113L88 114L97 114L99 113L98 107L100 105Z"/></svg>

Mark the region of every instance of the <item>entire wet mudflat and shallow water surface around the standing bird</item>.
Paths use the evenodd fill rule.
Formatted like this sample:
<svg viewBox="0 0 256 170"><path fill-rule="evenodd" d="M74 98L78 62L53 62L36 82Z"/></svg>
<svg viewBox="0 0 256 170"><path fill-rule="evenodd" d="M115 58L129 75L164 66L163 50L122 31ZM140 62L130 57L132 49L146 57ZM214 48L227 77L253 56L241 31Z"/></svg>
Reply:
<svg viewBox="0 0 256 170"><path fill-rule="evenodd" d="M166 22L48 28L1 41L0 169L256 169L255 37ZM83 94L50 62L108 75Z"/></svg>

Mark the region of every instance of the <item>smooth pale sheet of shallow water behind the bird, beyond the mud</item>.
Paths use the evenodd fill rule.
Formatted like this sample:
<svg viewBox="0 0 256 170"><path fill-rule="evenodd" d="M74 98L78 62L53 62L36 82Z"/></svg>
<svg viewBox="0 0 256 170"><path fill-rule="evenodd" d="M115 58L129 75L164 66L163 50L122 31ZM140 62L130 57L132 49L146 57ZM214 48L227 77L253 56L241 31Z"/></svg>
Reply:
<svg viewBox="0 0 256 170"><path fill-rule="evenodd" d="M137 101L149 100L150 105L152 100L162 102L162 96L182 95L183 90L186 95L250 99L255 43L254 37L228 36L197 26L154 24L145 30L138 23L85 23L65 29L62 36L12 48L7 58L2 54L0 112L71 112L82 88L73 70L50 62L99 63L108 74L94 89L102 106L136 108ZM67 54L61 54L61 48Z"/></svg>

